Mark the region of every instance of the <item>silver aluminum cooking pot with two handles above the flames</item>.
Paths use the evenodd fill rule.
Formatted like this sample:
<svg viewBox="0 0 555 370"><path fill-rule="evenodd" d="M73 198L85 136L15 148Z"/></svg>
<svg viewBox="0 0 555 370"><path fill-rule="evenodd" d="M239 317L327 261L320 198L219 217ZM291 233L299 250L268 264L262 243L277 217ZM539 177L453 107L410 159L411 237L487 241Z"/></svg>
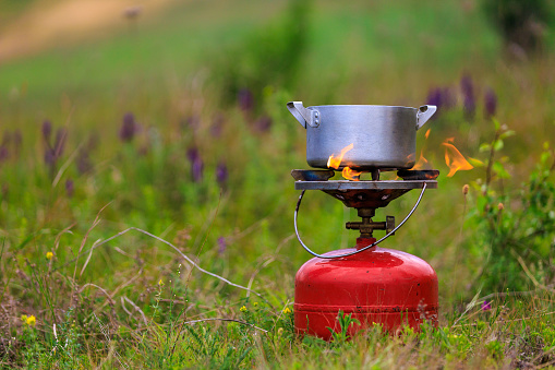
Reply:
<svg viewBox="0 0 555 370"><path fill-rule="evenodd" d="M414 166L417 131L434 115L436 106L420 108L369 105L303 107L289 102L289 111L306 129L306 162L328 168L330 155L345 153L338 169L408 169Z"/></svg>

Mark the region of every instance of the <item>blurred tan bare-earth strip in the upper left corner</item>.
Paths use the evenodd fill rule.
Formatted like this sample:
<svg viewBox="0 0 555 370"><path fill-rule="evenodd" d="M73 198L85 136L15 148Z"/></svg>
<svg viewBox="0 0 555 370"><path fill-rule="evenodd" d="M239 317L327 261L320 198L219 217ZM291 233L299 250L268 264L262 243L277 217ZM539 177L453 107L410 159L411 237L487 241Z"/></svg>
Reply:
<svg viewBox="0 0 555 370"><path fill-rule="evenodd" d="M101 37L150 17L172 0L39 0L0 33L0 63L52 46Z"/></svg>

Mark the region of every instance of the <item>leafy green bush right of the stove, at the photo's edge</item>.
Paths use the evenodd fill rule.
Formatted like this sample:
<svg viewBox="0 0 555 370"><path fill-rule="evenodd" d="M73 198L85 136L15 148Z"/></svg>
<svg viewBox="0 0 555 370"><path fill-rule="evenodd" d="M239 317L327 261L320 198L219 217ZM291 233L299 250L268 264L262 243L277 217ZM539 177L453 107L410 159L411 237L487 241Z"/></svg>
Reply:
<svg viewBox="0 0 555 370"><path fill-rule="evenodd" d="M514 132L494 120L495 138L480 150L488 154L483 165L485 179L472 184L476 190L476 208L471 213L471 251L486 258L475 284L483 291L527 290L533 285L545 287L554 282L552 268L555 242L555 155L544 144L535 168L520 189L504 187L510 175L507 157L499 157L504 140Z"/></svg>

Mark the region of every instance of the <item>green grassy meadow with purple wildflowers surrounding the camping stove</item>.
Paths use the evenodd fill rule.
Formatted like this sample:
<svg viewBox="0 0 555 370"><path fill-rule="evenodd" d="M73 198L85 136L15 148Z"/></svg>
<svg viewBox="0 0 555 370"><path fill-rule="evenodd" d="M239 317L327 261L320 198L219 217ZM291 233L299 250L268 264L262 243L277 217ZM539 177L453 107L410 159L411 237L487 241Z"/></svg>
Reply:
<svg viewBox="0 0 555 370"><path fill-rule="evenodd" d="M553 28L526 56L472 0L144 13L0 53L3 368L555 368ZM437 272L437 329L294 334L290 100L437 104L417 154L438 189L384 242ZM447 176L448 140L472 169ZM324 193L300 217L318 252L354 243Z"/></svg>

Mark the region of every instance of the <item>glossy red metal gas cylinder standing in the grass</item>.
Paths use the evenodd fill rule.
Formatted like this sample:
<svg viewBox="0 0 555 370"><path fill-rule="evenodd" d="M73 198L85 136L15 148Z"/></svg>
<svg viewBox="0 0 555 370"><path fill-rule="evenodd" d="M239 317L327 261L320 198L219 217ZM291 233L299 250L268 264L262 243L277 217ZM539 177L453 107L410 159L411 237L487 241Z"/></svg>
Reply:
<svg viewBox="0 0 555 370"><path fill-rule="evenodd" d="M374 238L358 238L361 249ZM326 255L354 251L331 251ZM329 341L340 332L339 310L352 313L361 325L351 325L349 334L382 324L395 333L402 325L419 330L424 320L437 323L437 275L418 256L372 247L350 256L325 260L314 258L297 272L294 290L294 326Z"/></svg>

